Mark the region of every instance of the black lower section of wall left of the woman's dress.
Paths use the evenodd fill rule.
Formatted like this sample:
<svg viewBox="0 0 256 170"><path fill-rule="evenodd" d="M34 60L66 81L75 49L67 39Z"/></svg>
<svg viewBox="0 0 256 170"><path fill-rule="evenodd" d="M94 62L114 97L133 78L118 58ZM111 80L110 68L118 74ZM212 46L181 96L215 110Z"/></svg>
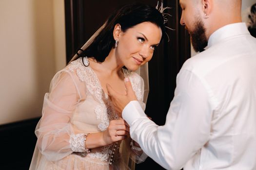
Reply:
<svg viewBox="0 0 256 170"><path fill-rule="evenodd" d="M0 125L0 170L29 169L37 141L38 121L39 118Z"/></svg>

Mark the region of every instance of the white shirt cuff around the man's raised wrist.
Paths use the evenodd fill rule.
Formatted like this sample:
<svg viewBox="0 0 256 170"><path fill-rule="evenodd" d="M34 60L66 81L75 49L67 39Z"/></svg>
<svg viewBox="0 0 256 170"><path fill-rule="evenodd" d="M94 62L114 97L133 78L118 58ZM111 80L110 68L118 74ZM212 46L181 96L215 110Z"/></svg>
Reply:
<svg viewBox="0 0 256 170"><path fill-rule="evenodd" d="M138 101L129 102L122 111L122 118L131 126L136 119L147 117Z"/></svg>

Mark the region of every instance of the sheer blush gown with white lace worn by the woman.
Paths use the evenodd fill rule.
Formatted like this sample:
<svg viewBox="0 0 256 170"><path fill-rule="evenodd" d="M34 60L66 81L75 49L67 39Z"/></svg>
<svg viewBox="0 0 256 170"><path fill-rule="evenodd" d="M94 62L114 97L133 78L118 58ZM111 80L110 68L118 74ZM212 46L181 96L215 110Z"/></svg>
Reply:
<svg viewBox="0 0 256 170"><path fill-rule="evenodd" d="M142 101L142 78L125 69L123 73ZM92 68L85 67L82 58L71 62L54 76L45 94L30 170L126 170L128 164L133 167L129 157L144 161L147 156L130 147L130 138L85 153L84 135L106 130L113 119L118 116Z"/></svg>

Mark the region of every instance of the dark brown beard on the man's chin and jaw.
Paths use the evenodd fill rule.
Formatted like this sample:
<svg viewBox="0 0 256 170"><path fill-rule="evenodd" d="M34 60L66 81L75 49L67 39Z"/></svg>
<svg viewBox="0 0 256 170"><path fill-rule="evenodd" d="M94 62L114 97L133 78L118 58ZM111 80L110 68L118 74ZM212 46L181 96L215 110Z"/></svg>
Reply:
<svg viewBox="0 0 256 170"><path fill-rule="evenodd" d="M200 19L195 23L195 29L193 31L189 30L189 34L191 36L191 42L194 50L196 52L204 51L204 48L208 44L208 40L205 35L205 28Z"/></svg>

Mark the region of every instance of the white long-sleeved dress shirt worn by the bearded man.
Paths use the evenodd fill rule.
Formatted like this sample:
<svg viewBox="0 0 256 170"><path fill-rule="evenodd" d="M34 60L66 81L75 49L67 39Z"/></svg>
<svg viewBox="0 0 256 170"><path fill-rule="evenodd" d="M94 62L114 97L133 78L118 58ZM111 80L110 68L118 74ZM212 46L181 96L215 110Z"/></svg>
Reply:
<svg viewBox="0 0 256 170"><path fill-rule="evenodd" d="M256 170L256 38L245 23L214 32L207 50L179 71L165 125L149 120L137 101L122 117L165 169Z"/></svg>

